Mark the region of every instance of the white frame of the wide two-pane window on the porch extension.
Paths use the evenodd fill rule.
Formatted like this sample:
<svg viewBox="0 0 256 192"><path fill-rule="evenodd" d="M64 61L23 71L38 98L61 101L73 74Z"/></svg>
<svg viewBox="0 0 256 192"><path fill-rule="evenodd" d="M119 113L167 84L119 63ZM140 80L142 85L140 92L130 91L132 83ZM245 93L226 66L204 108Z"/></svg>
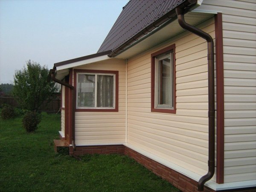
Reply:
<svg viewBox="0 0 256 192"><path fill-rule="evenodd" d="M115 109L116 108L116 74L113 73L77 73L76 82L78 84L79 75L95 75L95 88L94 88L94 106L97 106L97 82L98 76L113 76L113 107L79 107L78 106L78 89L76 89L76 108L77 109Z"/></svg>

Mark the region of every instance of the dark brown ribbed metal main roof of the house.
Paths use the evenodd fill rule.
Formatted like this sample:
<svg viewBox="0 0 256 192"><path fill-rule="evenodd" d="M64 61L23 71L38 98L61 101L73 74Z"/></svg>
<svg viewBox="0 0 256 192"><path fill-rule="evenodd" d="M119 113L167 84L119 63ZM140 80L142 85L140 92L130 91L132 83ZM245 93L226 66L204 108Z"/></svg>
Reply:
<svg viewBox="0 0 256 192"><path fill-rule="evenodd" d="M114 51L186 0L130 0L98 52Z"/></svg>

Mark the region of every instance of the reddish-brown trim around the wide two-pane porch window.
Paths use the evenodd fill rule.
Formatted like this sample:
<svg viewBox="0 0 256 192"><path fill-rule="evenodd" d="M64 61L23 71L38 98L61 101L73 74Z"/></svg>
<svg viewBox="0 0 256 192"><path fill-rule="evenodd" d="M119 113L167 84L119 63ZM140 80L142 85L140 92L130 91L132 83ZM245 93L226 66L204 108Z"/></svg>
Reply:
<svg viewBox="0 0 256 192"><path fill-rule="evenodd" d="M74 70L74 87L76 89L76 75L77 73L113 73L116 75L116 93L115 93L115 108L114 109L77 109L76 112L118 112L118 71L109 71L109 70ZM75 92L76 95L76 92ZM75 97L76 98L76 97Z"/></svg>

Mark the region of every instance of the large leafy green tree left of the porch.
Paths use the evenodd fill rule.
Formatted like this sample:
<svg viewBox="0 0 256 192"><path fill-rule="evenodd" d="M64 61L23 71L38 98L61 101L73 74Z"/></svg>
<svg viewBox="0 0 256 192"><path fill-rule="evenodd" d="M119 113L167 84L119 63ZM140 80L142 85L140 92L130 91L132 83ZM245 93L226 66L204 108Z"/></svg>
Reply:
<svg viewBox="0 0 256 192"><path fill-rule="evenodd" d="M15 71L13 95L20 107L38 111L44 100L55 93L55 83L47 81L48 74L45 65L30 60L22 70Z"/></svg>

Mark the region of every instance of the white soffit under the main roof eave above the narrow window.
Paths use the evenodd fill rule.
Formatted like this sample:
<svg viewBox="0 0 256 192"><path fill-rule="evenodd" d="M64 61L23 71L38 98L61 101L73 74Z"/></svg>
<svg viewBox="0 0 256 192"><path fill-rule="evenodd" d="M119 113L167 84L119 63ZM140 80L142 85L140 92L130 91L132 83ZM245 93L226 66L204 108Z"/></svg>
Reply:
<svg viewBox="0 0 256 192"><path fill-rule="evenodd" d="M199 23L202 23L213 16L214 14L212 13L204 12L188 12L184 15L185 21L192 26L198 25ZM119 55L116 55L115 58L131 58L132 56L137 55L151 47L154 47L157 44L173 38L174 36L180 34L183 31L185 31L185 29L180 27L176 19L172 23L164 26L162 29L159 29L157 32L154 32L153 30L152 32L148 33L147 35L145 35L146 38L144 38L142 41L135 41L133 46L130 46Z"/></svg>

